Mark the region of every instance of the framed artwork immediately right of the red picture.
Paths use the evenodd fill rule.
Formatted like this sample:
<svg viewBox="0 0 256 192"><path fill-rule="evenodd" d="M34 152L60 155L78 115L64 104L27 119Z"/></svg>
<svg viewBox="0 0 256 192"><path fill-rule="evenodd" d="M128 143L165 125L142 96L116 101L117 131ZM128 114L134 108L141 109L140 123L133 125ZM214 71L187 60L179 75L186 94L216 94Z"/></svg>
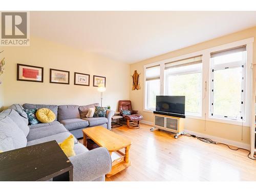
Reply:
<svg viewBox="0 0 256 192"><path fill-rule="evenodd" d="M69 84L69 71L50 69L50 83Z"/></svg>

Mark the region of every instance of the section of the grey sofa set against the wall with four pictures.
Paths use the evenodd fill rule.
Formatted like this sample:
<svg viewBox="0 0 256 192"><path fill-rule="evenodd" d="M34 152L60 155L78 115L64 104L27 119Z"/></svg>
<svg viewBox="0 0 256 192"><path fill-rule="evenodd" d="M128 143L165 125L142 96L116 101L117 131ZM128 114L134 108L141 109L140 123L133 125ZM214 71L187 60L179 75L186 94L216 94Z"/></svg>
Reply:
<svg viewBox="0 0 256 192"><path fill-rule="evenodd" d="M93 117L87 118L89 108L99 106L99 103L93 103L89 105L46 105L46 104L23 104L24 109L41 109L48 108L56 115L55 121L50 124L63 124L70 133L76 138L82 138L82 130L84 127L101 125L111 130L111 118L114 115L114 111L106 111L106 117ZM45 126L45 123L39 123L35 125L29 125L31 129L34 127Z"/></svg>

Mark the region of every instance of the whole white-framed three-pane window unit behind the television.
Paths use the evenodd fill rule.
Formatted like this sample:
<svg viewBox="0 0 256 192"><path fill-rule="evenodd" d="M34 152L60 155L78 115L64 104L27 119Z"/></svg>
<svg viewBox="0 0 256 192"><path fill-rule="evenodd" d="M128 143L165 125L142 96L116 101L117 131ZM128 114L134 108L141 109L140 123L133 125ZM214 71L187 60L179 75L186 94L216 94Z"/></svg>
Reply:
<svg viewBox="0 0 256 192"><path fill-rule="evenodd" d="M247 38L145 65L144 110L155 110L157 95L183 95L188 118L250 126L253 42Z"/></svg>

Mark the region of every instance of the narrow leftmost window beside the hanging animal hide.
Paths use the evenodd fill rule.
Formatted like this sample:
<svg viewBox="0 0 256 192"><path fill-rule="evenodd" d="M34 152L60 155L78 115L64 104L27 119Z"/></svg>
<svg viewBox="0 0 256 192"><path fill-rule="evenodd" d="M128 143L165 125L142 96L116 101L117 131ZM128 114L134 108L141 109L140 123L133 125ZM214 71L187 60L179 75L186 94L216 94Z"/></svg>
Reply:
<svg viewBox="0 0 256 192"><path fill-rule="evenodd" d="M156 109L156 96L160 95L160 66L146 68L145 109Z"/></svg>

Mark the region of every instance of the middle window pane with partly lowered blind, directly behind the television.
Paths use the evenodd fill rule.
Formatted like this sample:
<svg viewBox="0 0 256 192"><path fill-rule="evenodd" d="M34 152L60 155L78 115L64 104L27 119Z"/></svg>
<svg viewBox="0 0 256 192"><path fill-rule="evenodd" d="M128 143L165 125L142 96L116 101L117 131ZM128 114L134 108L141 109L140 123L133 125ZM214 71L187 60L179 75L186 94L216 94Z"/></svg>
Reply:
<svg viewBox="0 0 256 192"><path fill-rule="evenodd" d="M202 55L165 63L165 95L185 96L185 113L202 113Z"/></svg>

